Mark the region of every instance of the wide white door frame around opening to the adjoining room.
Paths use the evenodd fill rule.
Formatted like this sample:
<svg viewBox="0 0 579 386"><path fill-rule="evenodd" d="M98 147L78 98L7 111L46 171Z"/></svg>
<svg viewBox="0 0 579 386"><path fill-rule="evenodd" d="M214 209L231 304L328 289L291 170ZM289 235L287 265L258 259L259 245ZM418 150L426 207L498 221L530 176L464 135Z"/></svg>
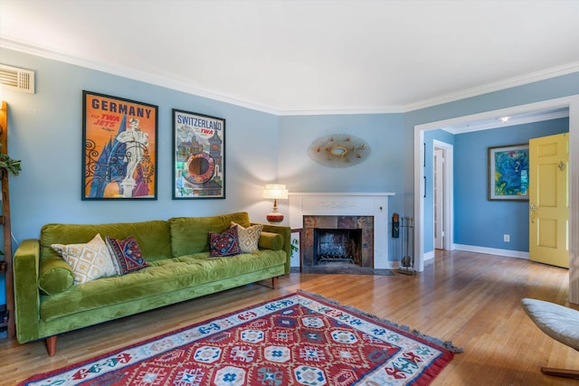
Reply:
<svg viewBox="0 0 579 386"><path fill-rule="evenodd" d="M479 114L445 119L414 126L414 268L424 270L424 131L441 127L451 127L479 119L507 117L524 112L547 109L569 108L569 301L579 304L579 94L559 99L502 108Z"/></svg>

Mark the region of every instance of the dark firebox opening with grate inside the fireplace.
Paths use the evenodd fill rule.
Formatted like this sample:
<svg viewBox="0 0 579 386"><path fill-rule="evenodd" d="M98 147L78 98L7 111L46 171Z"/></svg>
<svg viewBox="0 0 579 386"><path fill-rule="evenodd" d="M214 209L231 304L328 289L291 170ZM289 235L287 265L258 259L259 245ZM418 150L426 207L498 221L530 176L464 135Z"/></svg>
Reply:
<svg viewBox="0 0 579 386"><path fill-rule="evenodd" d="M332 263L362 267L362 230L314 229L313 265Z"/></svg>

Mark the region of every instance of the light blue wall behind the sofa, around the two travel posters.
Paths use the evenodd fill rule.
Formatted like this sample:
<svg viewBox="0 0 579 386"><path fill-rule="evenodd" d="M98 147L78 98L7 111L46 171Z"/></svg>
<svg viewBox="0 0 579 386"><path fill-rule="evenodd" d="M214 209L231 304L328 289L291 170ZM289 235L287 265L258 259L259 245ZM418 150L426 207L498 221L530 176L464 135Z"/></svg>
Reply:
<svg viewBox="0 0 579 386"><path fill-rule="evenodd" d="M265 221L263 185L278 173L279 118L60 61L0 50L1 62L35 71L36 93L4 91L8 153L23 171L10 178L14 238L37 238L48 222L99 223L248 211ZM81 201L82 90L158 106L157 201ZM171 109L226 119L225 200L172 200ZM14 249L17 242L14 242ZM4 275L0 304L5 303Z"/></svg>

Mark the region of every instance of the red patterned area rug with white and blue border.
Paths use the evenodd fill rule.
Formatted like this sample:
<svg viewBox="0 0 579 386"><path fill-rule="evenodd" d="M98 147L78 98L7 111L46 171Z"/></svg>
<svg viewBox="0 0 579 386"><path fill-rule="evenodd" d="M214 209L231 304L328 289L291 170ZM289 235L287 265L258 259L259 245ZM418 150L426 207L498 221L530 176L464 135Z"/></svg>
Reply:
<svg viewBox="0 0 579 386"><path fill-rule="evenodd" d="M460 351L299 292L20 384L425 385Z"/></svg>

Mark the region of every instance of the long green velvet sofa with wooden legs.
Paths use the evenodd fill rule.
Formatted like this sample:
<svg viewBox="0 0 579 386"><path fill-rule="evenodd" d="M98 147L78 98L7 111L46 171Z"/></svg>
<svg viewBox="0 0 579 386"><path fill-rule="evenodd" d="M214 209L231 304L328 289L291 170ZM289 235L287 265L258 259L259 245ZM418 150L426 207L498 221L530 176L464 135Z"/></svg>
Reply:
<svg viewBox="0 0 579 386"><path fill-rule="evenodd" d="M263 224L257 252L210 257L209 232L226 231L232 221L243 227L252 225L247 212L166 221L44 225L40 239L22 241L14 253L18 342L46 339L52 356L56 336L74 329L264 279L271 278L275 287L275 279L289 273L289 227ZM67 263L51 245L84 243L97 233L103 238L133 236L147 268L78 285L64 283L70 278ZM39 286L49 277L51 295Z"/></svg>

